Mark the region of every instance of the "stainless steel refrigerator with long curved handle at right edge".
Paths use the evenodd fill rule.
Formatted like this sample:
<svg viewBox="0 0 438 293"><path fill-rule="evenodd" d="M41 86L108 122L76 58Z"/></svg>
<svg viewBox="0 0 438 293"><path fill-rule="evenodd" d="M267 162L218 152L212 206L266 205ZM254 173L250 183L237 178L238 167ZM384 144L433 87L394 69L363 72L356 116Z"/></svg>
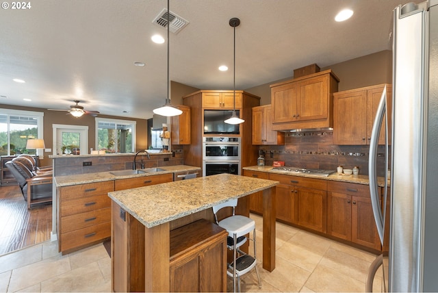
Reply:
<svg viewBox="0 0 438 293"><path fill-rule="evenodd" d="M376 144L385 92L374 121L369 166L382 244L385 220L390 221L385 286L389 292L437 292L438 0L395 8L393 34L393 123L386 154L391 160L390 214L382 212L386 194L381 198L376 193Z"/></svg>

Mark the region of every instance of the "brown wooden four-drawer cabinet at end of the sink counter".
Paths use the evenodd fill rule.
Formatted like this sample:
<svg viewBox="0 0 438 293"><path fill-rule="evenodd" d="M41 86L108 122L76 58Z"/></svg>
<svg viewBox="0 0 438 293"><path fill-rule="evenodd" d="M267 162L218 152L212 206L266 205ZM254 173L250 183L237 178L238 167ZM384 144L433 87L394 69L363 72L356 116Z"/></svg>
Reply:
<svg viewBox="0 0 438 293"><path fill-rule="evenodd" d="M114 181L58 188L58 246L70 253L110 238L111 200Z"/></svg>

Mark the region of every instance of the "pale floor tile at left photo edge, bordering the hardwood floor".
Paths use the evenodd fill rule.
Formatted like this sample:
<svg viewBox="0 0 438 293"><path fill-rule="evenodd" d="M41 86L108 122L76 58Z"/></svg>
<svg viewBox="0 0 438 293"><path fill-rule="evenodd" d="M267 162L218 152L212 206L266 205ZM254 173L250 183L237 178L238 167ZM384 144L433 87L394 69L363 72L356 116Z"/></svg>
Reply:
<svg viewBox="0 0 438 293"><path fill-rule="evenodd" d="M0 272L20 268L41 260L42 244L30 246L26 249L15 251L0 256Z"/></svg>

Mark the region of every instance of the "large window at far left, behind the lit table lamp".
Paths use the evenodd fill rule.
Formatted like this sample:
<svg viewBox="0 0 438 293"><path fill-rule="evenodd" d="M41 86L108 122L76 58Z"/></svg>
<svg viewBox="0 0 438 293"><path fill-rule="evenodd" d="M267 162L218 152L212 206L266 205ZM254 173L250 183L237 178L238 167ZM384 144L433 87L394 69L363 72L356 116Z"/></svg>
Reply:
<svg viewBox="0 0 438 293"><path fill-rule="evenodd" d="M0 109L0 155L37 153L42 150L26 149L29 138L42 138L42 112Z"/></svg>

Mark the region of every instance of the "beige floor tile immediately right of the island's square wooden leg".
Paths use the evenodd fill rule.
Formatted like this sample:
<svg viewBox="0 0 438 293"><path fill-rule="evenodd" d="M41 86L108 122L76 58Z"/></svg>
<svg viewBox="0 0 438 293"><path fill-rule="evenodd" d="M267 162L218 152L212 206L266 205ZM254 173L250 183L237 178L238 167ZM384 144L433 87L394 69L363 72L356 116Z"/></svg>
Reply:
<svg viewBox="0 0 438 293"><path fill-rule="evenodd" d="M281 257L287 262L312 272L322 259L323 253L313 251L312 247L300 246L293 243L285 243L276 251L276 261Z"/></svg>

